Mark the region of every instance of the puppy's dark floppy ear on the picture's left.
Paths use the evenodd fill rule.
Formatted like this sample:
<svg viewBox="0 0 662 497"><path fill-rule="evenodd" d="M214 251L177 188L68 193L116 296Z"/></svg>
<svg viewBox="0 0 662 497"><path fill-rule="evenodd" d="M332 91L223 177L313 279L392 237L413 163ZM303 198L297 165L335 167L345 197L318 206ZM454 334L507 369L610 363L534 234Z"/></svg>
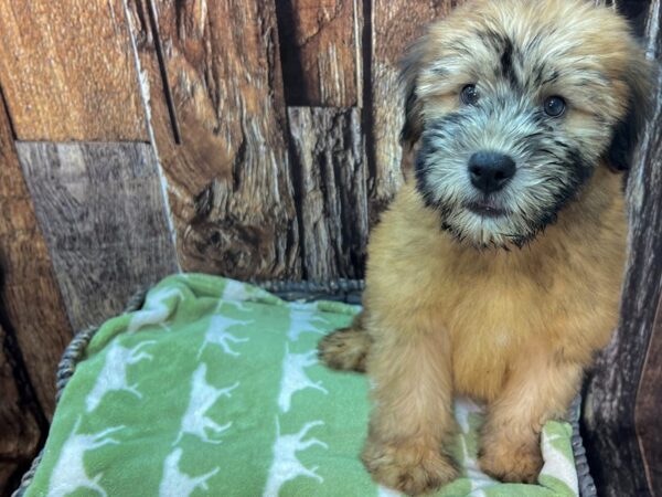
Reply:
<svg viewBox="0 0 662 497"><path fill-rule="evenodd" d="M401 63L399 81L405 92L405 124L401 130L403 147L414 147L423 133L423 105L416 89L426 39L424 35L409 45Z"/></svg>

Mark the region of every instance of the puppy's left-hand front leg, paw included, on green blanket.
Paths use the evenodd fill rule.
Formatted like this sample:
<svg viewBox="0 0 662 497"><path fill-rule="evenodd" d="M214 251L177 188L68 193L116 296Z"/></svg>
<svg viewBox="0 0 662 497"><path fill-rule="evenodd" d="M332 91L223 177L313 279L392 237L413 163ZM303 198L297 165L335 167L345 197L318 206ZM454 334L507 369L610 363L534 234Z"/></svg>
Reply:
<svg viewBox="0 0 662 497"><path fill-rule="evenodd" d="M414 326L382 334L367 374L374 409L362 459L373 478L407 495L452 480L457 470L441 452L455 427L446 336Z"/></svg>

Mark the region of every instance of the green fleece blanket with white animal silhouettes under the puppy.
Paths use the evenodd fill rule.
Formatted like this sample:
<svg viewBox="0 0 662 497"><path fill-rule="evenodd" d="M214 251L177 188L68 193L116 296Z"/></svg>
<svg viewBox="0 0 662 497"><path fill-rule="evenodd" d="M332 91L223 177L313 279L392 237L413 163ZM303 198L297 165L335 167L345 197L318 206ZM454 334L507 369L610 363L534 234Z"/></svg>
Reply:
<svg viewBox="0 0 662 497"><path fill-rule="evenodd" d="M357 307L288 304L232 279L175 275L107 321L53 420L28 496L394 496L359 461L366 380L316 361ZM570 426L548 423L540 485L476 463L479 409L457 403L463 476L439 496L576 496Z"/></svg>

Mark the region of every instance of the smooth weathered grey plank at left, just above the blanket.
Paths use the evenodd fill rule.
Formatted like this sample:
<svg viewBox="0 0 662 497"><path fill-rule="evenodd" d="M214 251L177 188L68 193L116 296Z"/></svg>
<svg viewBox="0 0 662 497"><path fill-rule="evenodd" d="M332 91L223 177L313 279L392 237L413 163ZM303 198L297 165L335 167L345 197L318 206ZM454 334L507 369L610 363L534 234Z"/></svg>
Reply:
<svg viewBox="0 0 662 497"><path fill-rule="evenodd" d="M142 286L177 271L151 146L17 148L76 329L100 325Z"/></svg>

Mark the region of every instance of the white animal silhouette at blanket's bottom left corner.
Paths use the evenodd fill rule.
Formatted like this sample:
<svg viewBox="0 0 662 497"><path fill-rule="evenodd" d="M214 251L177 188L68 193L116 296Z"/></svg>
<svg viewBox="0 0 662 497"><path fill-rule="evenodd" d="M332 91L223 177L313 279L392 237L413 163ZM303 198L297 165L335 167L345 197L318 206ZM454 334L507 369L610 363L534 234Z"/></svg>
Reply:
<svg viewBox="0 0 662 497"><path fill-rule="evenodd" d="M49 497L64 497L77 488L88 488L104 497L107 496L106 490L99 485L103 474L98 473L93 478L87 476L83 457L87 451L108 444L118 444L118 441L108 437L108 435L124 429L124 426L109 427L98 433L77 434L79 426L81 417L76 421L72 434L62 446L60 458L51 474Z"/></svg>

